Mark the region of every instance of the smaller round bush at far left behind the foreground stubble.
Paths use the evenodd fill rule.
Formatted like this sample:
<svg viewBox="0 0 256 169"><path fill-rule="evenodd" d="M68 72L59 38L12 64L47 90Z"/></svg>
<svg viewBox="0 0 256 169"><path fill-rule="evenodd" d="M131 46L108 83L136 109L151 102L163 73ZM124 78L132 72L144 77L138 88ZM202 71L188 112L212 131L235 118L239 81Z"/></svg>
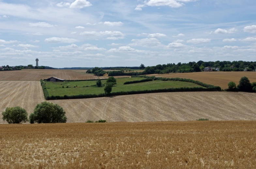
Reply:
<svg viewBox="0 0 256 169"><path fill-rule="evenodd" d="M27 111L21 107L7 107L6 110L2 113L3 120L11 123L26 123L28 121Z"/></svg>

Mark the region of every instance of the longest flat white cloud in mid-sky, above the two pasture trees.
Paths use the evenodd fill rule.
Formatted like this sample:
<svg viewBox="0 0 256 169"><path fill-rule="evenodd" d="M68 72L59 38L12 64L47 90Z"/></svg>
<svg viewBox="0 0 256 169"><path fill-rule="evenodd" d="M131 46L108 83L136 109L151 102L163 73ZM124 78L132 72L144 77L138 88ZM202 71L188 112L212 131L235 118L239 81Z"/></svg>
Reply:
<svg viewBox="0 0 256 169"><path fill-rule="evenodd" d="M95 32L95 31L85 31L85 32L81 32L80 35L84 35L84 36L111 36L108 37L107 39L109 40L117 40L117 39L124 39L124 34L122 32L119 31L105 31L105 32Z"/></svg>

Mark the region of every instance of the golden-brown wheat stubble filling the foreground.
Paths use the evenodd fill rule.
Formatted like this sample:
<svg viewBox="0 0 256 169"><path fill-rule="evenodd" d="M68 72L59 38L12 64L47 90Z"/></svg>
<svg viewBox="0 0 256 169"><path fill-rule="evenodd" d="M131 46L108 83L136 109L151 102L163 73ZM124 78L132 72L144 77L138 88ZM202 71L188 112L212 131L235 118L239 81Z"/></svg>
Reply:
<svg viewBox="0 0 256 169"><path fill-rule="evenodd" d="M255 168L255 121L1 124L0 168Z"/></svg>

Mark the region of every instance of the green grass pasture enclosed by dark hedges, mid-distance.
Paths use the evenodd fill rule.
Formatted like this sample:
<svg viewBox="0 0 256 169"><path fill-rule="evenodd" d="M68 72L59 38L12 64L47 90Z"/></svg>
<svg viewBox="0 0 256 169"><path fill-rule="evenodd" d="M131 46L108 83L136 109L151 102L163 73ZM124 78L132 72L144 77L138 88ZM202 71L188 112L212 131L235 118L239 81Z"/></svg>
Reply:
<svg viewBox="0 0 256 169"><path fill-rule="evenodd" d="M145 78L117 78L117 85L113 86L112 92L120 91L137 91L137 90L151 90L151 89L165 89L165 88L179 88L179 87L202 87L188 82L179 81L150 81L136 84L123 85L128 81L142 80ZM106 80L101 80L102 84ZM80 94L100 94L104 93L104 87L92 86L96 85L96 81L78 81L78 82L45 82L50 96L73 96ZM64 86L64 88L62 88ZM69 86L69 88L66 88ZM77 87L74 87L77 86ZM89 87L83 87L89 86Z"/></svg>

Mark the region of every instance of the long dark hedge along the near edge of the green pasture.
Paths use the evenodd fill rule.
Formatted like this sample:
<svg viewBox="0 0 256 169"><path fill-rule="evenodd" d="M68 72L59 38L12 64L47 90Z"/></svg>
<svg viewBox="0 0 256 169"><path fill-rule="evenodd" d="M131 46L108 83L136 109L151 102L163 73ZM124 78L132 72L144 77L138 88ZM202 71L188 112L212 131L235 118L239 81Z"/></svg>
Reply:
<svg viewBox="0 0 256 169"><path fill-rule="evenodd" d="M168 88L168 89L138 90L138 91L128 91L128 92L113 92L113 93L110 93L109 95L107 95L105 93L101 93L101 94L85 94L85 95L75 95L75 96L67 96L67 95L51 96L51 97L46 97L46 99L47 100L60 100L60 99L100 98L100 97L121 96L121 95L145 94L145 93L203 92L203 91L219 91L219 90L218 90L218 86L213 86L213 87L209 87L209 88L180 87L180 88ZM48 92L47 92L47 94L48 94Z"/></svg>

